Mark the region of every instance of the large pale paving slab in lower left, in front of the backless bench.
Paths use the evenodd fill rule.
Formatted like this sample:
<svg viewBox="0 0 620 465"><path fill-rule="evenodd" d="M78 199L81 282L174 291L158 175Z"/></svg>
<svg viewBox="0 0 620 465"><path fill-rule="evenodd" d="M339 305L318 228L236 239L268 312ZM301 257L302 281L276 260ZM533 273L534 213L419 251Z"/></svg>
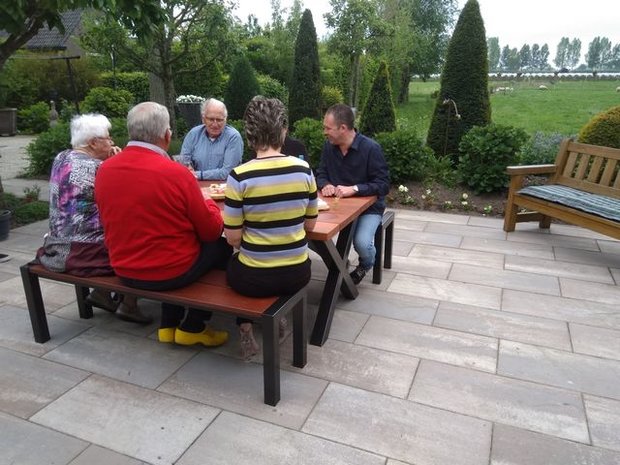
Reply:
<svg viewBox="0 0 620 465"><path fill-rule="evenodd" d="M31 421L155 465L174 463L218 409L93 375Z"/></svg>

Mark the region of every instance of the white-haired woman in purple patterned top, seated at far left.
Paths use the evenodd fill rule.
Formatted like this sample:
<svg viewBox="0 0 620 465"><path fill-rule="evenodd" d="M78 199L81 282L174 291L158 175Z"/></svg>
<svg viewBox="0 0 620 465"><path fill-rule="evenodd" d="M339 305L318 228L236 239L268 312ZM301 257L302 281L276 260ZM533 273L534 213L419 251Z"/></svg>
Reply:
<svg viewBox="0 0 620 465"><path fill-rule="evenodd" d="M50 176L50 230L43 247L37 251L39 262L49 270L77 276L114 274L94 198L99 165L120 152L110 137L111 127L103 115L74 117L72 148L54 159ZM134 297L113 298L109 292L95 289L87 301L95 307L117 312L119 318L127 321L151 321L140 311Z"/></svg>

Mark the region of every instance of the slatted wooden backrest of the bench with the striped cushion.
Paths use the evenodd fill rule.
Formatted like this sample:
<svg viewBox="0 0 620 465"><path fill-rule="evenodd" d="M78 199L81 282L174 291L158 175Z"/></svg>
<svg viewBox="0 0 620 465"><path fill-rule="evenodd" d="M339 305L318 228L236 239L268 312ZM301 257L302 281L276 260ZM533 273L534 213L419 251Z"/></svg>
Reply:
<svg viewBox="0 0 620 465"><path fill-rule="evenodd" d="M620 149L565 139L555 164L551 183L620 198Z"/></svg>

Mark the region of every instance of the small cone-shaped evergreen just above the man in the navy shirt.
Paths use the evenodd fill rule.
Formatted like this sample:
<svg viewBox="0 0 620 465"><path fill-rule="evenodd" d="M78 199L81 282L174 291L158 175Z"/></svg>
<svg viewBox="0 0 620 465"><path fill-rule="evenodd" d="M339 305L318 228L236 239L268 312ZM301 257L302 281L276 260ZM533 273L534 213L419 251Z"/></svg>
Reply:
<svg viewBox="0 0 620 465"><path fill-rule="evenodd" d="M396 114L387 64L379 65L360 121L360 131L367 136L396 130Z"/></svg>

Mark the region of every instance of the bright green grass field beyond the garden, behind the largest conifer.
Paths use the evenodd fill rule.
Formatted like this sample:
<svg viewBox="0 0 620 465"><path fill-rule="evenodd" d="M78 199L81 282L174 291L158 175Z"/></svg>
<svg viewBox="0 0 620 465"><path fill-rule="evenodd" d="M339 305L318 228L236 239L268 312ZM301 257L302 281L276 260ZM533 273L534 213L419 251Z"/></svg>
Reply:
<svg viewBox="0 0 620 465"><path fill-rule="evenodd" d="M548 90L539 90L544 84ZM491 95L494 123L516 126L529 134L536 131L575 135L594 115L620 105L620 92L615 81L549 80L489 82L489 87L512 87L511 92ZM435 99L431 92L439 90L439 82L412 82L409 103L396 108L399 128L414 129L422 138L433 113ZM457 102L458 105L458 102Z"/></svg>

